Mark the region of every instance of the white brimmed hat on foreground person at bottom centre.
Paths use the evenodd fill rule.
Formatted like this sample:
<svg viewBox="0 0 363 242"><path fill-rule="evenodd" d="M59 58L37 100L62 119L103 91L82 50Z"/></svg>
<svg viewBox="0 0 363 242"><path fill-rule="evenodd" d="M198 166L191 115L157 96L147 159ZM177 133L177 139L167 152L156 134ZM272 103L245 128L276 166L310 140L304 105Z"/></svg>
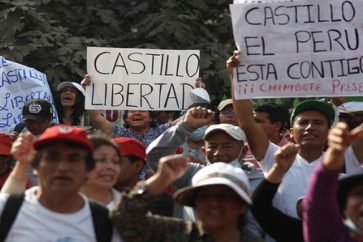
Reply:
<svg viewBox="0 0 363 242"><path fill-rule="evenodd" d="M215 162L202 168L193 176L192 185L176 191L174 198L180 204L193 207L198 188L212 185L225 185L248 205L252 204L251 187L246 173L241 168L224 162Z"/></svg>

